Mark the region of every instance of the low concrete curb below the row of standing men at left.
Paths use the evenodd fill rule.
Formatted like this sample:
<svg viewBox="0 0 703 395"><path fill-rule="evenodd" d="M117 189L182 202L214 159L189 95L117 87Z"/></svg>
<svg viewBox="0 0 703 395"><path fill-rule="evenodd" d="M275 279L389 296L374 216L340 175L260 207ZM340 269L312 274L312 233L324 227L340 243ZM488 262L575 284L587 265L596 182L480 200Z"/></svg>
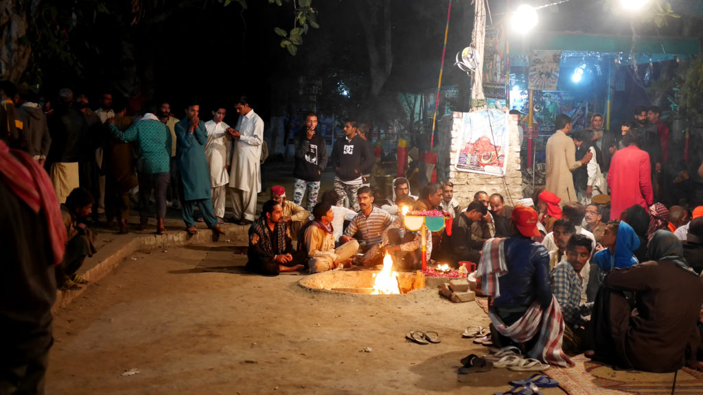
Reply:
<svg viewBox="0 0 703 395"><path fill-rule="evenodd" d="M236 226L223 224L222 228L227 235L219 235L216 238L208 228L198 228L197 235L188 235L185 231L168 231L166 235L129 233L127 235L115 235L106 245L102 246L93 257L86 258L78 274L90 283L96 283L120 265L123 259L130 254L145 248L177 247L181 245L202 244L206 242L246 242L249 226ZM112 233L101 233L109 236ZM218 240L219 239L219 240ZM124 241L124 242L123 242ZM68 306L80 294L85 292L91 284L83 285L80 290L57 290L56 302L51 308L52 312Z"/></svg>

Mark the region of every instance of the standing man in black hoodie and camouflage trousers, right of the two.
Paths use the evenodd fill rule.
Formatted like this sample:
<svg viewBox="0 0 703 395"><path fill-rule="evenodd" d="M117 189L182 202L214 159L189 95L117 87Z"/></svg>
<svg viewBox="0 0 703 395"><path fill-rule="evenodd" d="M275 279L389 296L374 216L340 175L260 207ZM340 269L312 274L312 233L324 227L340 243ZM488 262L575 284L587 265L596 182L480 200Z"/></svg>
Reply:
<svg viewBox="0 0 703 395"><path fill-rule="evenodd" d="M344 125L344 138L335 141L332 149L331 162L335 167L335 190L340 200L337 206L349 207L359 211L359 202L356 200L356 191L361 188L362 174L370 174L373 169L373 153L368 152L368 145L356 132L356 122L347 122ZM344 205L344 200L349 200L349 205Z"/></svg>

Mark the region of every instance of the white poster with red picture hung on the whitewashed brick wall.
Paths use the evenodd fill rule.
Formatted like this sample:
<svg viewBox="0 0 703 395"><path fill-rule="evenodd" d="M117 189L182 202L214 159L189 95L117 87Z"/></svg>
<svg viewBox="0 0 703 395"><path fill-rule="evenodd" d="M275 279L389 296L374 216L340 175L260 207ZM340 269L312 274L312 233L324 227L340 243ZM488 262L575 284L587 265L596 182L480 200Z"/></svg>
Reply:
<svg viewBox="0 0 703 395"><path fill-rule="evenodd" d="M459 133L458 171L503 176L507 169L510 129L508 115L499 110L465 112Z"/></svg>

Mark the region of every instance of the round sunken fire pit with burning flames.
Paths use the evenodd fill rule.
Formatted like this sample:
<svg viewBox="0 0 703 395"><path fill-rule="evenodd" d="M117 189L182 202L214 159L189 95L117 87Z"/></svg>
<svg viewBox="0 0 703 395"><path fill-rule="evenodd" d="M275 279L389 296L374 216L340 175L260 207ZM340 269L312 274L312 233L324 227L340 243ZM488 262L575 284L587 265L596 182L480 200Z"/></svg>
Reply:
<svg viewBox="0 0 703 395"><path fill-rule="evenodd" d="M398 273L392 270L389 256L380 271L326 271L300 280L301 287L311 290L328 290L352 294L406 294L425 287L425 275Z"/></svg>

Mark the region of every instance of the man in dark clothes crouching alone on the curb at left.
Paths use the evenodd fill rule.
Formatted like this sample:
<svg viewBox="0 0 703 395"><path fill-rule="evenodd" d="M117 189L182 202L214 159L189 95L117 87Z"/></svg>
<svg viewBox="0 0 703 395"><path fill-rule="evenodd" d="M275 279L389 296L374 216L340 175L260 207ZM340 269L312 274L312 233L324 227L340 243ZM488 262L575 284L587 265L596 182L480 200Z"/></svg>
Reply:
<svg viewBox="0 0 703 395"><path fill-rule="evenodd" d="M96 253L95 234L88 228L87 216L93 212L95 199L86 188L75 188L61 205L61 215L66 227L67 243L63 263L56 266L56 284L64 290L79 290L78 284L88 282L76 272L86 257Z"/></svg>

